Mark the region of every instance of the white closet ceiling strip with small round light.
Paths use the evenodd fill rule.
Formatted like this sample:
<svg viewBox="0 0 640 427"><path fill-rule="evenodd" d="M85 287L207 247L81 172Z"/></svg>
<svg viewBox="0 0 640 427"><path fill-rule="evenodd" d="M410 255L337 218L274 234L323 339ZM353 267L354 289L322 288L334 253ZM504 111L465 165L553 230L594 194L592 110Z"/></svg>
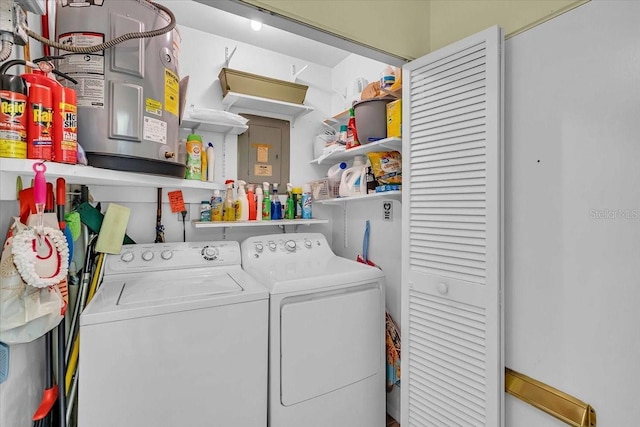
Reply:
<svg viewBox="0 0 640 427"><path fill-rule="evenodd" d="M275 27L263 25L253 31L250 20L211 5L192 0L155 0L168 7L178 25L195 28L239 42L262 47L329 68L335 67L351 53Z"/></svg>

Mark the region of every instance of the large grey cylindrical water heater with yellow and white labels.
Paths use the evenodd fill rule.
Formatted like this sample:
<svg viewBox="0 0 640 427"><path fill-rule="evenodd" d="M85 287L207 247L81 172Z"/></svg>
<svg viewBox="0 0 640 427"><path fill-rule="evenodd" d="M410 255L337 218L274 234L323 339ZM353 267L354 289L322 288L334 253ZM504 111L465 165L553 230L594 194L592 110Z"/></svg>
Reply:
<svg viewBox="0 0 640 427"><path fill-rule="evenodd" d="M170 17L146 0L58 0L56 39L91 46L166 27ZM179 35L132 39L94 53L59 55L78 81L78 142L91 166L184 177L177 159Z"/></svg>

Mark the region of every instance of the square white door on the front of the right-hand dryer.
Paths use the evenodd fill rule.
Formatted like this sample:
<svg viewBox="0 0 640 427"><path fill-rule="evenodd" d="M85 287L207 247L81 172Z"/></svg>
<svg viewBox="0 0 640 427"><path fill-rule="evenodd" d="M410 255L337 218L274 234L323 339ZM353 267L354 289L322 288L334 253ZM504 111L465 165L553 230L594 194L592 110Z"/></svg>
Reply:
<svg viewBox="0 0 640 427"><path fill-rule="evenodd" d="M380 283L287 298L280 316L282 405L383 374Z"/></svg>

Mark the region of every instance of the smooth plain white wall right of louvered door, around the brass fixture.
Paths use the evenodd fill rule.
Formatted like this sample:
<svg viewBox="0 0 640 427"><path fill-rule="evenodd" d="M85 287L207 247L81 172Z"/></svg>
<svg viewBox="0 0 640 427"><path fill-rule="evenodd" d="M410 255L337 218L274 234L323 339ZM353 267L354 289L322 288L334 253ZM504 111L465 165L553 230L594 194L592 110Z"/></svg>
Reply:
<svg viewBox="0 0 640 427"><path fill-rule="evenodd" d="M506 44L506 364L638 421L640 2ZM562 426L513 398L506 425Z"/></svg>

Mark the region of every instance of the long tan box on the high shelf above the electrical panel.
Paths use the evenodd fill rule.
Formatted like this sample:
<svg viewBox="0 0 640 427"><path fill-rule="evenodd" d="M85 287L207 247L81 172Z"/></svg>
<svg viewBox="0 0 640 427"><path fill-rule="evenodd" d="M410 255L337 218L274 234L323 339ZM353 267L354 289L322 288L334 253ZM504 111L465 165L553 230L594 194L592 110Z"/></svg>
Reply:
<svg viewBox="0 0 640 427"><path fill-rule="evenodd" d="M309 86L223 68L218 74L222 96L228 92L302 104Z"/></svg>

